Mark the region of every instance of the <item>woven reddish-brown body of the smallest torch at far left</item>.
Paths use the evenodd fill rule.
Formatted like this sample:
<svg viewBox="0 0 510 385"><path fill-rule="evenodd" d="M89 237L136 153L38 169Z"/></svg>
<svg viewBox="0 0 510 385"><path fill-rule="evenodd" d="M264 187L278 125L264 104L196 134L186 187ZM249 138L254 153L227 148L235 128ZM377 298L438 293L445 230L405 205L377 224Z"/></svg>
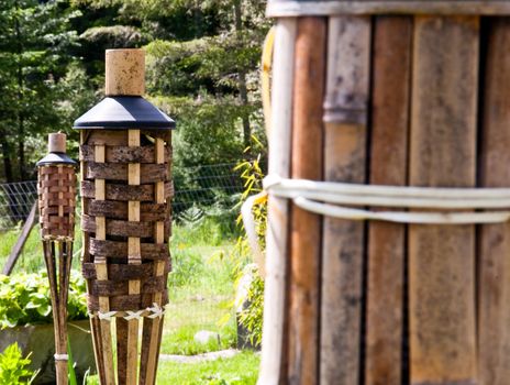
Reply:
<svg viewBox="0 0 510 385"><path fill-rule="evenodd" d="M38 168L41 235L45 240L73 240L75 233L76 172L68 165Z"/></svg>

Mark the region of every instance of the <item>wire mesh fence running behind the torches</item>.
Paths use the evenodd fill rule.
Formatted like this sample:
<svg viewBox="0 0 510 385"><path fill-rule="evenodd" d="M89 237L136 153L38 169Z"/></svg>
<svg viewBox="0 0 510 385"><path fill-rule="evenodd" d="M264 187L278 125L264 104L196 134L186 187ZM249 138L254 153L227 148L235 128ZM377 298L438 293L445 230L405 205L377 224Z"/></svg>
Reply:
<svg viewBox="0 0 510 385"><path fill-rule="evenodd" d="M211 206L242 193L241 173L234 163L174 169L173 212L195 206ZM0 184L0 231L23 222L37 198L37 182Z"/></svg>

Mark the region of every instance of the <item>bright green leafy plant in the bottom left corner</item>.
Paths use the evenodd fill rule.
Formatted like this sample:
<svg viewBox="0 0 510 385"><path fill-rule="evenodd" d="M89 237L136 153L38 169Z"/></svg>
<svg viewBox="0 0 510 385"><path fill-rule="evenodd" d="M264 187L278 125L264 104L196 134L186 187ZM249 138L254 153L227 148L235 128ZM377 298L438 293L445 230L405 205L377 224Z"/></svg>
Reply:
<svg viewBox="0 0 510 385"><path fill-rule="evenodd" d="M0 384L32 384L37 372L31 371L30 354L23 359L18 342L0 354Z"/></svg>

